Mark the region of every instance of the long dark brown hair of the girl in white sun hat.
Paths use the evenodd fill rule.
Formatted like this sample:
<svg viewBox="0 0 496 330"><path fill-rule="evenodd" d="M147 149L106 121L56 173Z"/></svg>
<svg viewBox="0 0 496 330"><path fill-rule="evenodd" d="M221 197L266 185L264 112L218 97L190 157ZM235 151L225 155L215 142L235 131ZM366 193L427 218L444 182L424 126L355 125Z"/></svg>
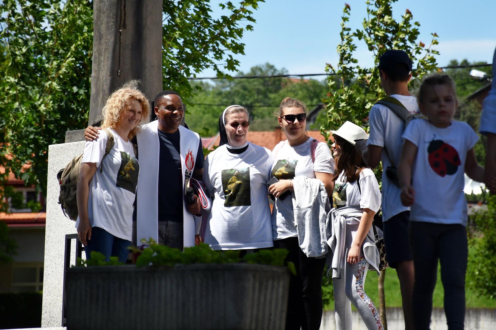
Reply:
<svg viewBox="0 0 496 330"><path fill-rule="evenodd" d="M355 146L338 135L334 135L334 143L341 147L341 155L336 158L336 175L333 181L344 172L348 183L355 182L360 177L360 172L367 167L362 155L355 150Z"/></svg>

